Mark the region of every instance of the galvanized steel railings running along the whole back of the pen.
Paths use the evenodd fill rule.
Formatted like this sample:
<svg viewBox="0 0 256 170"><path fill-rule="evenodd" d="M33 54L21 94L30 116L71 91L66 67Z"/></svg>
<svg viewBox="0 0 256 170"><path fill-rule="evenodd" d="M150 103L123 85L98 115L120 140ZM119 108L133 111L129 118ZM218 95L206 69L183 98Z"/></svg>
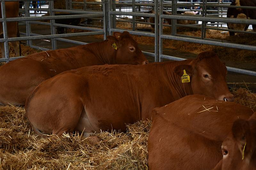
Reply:
<svg viewBox="0 0 256 170"><path fill-rule="evenodd" d="M2 0L2 16L3 18L0 19L0 22L3 22L3 28L4 28L4 39L0 39L0 42L4 42L4 47L5 47L5 59L0 59L0 61L10 61L14 60L19 57L13 57L9 58L9 51L8 49L8 42L9 41L17 41L17 40L27 40L27 44L31 47L34 48L39 48L37 46L33 46L31 44L30 40L33 39L52 39L52 49L56 49L56 40L60 41L66 41L66 42L71 42L71 43L76 43L76 44L86 44L84 42L79 42L79 41L74 41L74 40L69 40L69 39L63 39L62 37L71 37L71 36L84 36L84 35L96 35L96 34L104 34L104 39L106 39L107 34L111 35L112 32L119 31L128 31L131 34L134 35L141 35L141 36L148 36L148 37L154 37L155 38L155 53L149 53L149 52L143 52L146 55L153 56L155 57L155 62L161 61L161 59L170 59L170 60L185 60L183 58L178 58L174 56L167 56L163 55L163 39L172 39L172 40L179 40L179 41L187 41L187 42L194 42L194 43L200 43L200 44L207 44L207 45L214 45L214 46L224 46L224 47L231 47L231 48L237 48L237 49L245 49L245 50L253 50L256 51L256 46L249 46L249 45L240 45L240 44L234 44L230 42L225 42L225 41L220 41L216 39L207 39L205 37L205 32L206 29L212 29L212 30L220 30L220 31L234 31L234 30L228 30L227 28L222 27L222 25L225 25L226 23L243 23L243 24L255 24L256 25L256 20L253 19L237 19L237 18L225 18L222 17L225 15L225 8L250 8L250 9L256 9L256 7L246 7L246 6L229 6L230 3L207 3L207 0L202 0L202 2L193 2L190 0L190 2L186 3L181 3L177 2L177 0L173 1L165 1L165 0L127 0L127 1L116 1L116 0L108 0L108 1L103 1L102 2L102 11L93 11L90 9L86 9L86 4L97 4L96 2L72 2L72 0L66 0L66 9L68 10L60 10L60 9L54 9L53 7L53 1L49 1L49 9L33 9L36 11L48 11L50 13L50 16L44 16L44 17L29 17L29 9L28 3L25 3L25 12L26 12L26 17L22 18L6 18L5 17L5 5L4 2L6 1L17 1L17 0ZM28 0L23 0L23 1L28 1ZM81 6L84 6L83 9L73 9L74 4L80 4ZM99 4L99 3L98 3ZM122 5L124 6L130 6L130 11L122 11ZM180 9L177 10L177 7L179 6L185 6L187 9ZM195 10L193 11L200 11L201 15L197 16L184 16L177 14L177 11L191 11L192 7L199 6L201 7L200 10ZM207 10L207 7L209 6L214 6L214 7L219 7L218 10ZM145 11L141 10L142 8L144 9L154 9L156 12L155 14L151 13L143 13ZM173 15L163 15L163 11L172 11ZM214 11L215 14L208 14L209 11ZM68 12L68 13L75 13L75 14L80 14L80 15L64 15L64 16L54 16L54 12ZM119 16L119 17L118 17ZM120 18L120 16L132 16L131 19L129 20L117 20ZM99 18L102 17L102 18ZM140 22L136 19L136 17L144 17L144 18L149 18L153 17L155 18L155 23L147 23L150 25L155 25L155 33L152 32L143 32L143 31L138 31L136 30L136 24L145 24L143 22ZM102 26L96 26L97 28L94 28L94 25L88 25L85 24L83 26L73 26L73 25L63 25L63 24L56 24L55 19L59 18L94 18L94 19L99 19L103 21ZM163 19L168 18L172 19L172 25L165 25L165 26L172 26L172 33L171 35L166 35L163 33ZM42 20L42 19L51 19L50 23L45 23L45 22L38 22L36 20ZM177 19L183 19L183 20L192 20L192 21L202 21L200 24L193 24L193 25L180 25L177 24L176 21ZM18 37L18 38L8 38L7 37L7 28L6 28L6 22L7 21L25 21L26 22L26 33L21 33L21 35L25 35L24 37ZM160 21L160 22L158 22ZM207 22L217 22L216 27L209 26L211 24L207 24ZM120 29L116 28L116 22L128 22L132 24L132 29L130 30L125 30L125 29ZM43 24L43 25L50 25L51 26L51 35L39 35L39 34L34 34L31 32L30 29L30 24ZM55 28L57 26L60 27L66 27L66 28L77 28L77 29L82 29L82 30L88 30L92 32L79 32L79 33L67 33L67 34L56 34L55 33ZM179 26L183 27L192 27L192 28L200 28L201 29L201 37L195 37L195 36L186 36L186 35L180 35L176 33L176 28ZM236 32L241 32L244 33L245 31L236 31ZM248 32L246 33L250 34L256 34L256 32ZM42 49L42 48L41 48ZM48 50L48 49L44 49ZM237 72L237 73L242 73L242 74L247 74L247 75L253 75L256 76L255 71L250 71L250 70L244 70L244 69L239 69L239 68L232 68L232 67L227 67L228 71L232 72Z"/></svg>

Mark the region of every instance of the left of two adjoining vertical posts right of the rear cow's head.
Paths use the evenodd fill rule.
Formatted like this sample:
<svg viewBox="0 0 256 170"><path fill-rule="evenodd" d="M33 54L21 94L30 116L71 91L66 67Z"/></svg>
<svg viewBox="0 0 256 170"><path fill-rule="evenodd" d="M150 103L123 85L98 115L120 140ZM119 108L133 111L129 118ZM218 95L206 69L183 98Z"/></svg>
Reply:
<svg viewBox="0 0 256 170"><path fill-rule="evenodd" d="M154 0L155 2L155 62L158 62L159 61L159 58L158 58L158 30L159 30L159 27L158 27L158 0ZM162 12L163 13L163 12Z"/></svg>

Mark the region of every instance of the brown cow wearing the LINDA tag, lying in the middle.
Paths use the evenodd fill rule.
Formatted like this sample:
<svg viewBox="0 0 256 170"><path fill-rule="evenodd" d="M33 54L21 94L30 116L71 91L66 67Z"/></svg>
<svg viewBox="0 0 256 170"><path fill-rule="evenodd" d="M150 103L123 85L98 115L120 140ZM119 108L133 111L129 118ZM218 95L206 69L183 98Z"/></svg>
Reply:
<svg viewBox="0 0 256 170"><path fill-rule="evenodd" d="M181 82L183 72L190 82ZM193 60L143 66L105 65L67 71L41 83L25 105L38 134L126 130L125 123L151 118L160 107L190 94L233 100L227 68L213 52ZM188 77L187 77L188 78Z"/></svg>

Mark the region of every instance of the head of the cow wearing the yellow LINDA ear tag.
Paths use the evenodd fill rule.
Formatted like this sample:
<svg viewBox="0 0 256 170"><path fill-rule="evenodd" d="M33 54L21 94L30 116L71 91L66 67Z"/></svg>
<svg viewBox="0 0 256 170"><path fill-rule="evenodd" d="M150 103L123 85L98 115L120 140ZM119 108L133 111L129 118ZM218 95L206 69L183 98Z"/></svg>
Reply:
<svg viewBox="0 0 256 170"><path fill-rule="evenodd" d="M181 77L184 69L190 76L193 94L224 101L234 100L225 80L227 68L214 52L202 52L192 65L176 66L174 72Z"/></svg>

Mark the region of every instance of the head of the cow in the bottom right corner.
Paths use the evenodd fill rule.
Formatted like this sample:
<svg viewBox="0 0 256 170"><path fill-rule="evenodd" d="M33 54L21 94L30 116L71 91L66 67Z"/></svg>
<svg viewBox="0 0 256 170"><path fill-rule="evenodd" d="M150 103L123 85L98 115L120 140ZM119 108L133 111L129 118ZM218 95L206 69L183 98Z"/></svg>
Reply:
<svg viewBox="0 0 256 170"><path fill-rule="evenodd" d="M256 112L254 113L256 115ZM224 139L221 151L223 158L214 169L256 169L256 119L238 119L232 132Z"/></svg>

